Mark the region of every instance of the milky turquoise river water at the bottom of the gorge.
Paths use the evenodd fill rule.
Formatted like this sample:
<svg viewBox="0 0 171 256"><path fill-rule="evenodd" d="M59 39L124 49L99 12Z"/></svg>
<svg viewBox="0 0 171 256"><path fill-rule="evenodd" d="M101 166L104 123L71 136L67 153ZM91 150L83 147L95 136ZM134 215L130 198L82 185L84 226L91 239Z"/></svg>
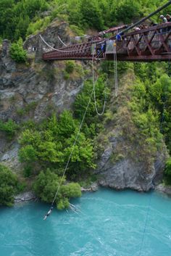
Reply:
<svg viewBox="0 0 171 256"><path fill-rule="evenodd" d="M171 255L170 198L100 189L72 203L79 214L53 210L46 220L39 202L1 207L0 256Z"/></svg>

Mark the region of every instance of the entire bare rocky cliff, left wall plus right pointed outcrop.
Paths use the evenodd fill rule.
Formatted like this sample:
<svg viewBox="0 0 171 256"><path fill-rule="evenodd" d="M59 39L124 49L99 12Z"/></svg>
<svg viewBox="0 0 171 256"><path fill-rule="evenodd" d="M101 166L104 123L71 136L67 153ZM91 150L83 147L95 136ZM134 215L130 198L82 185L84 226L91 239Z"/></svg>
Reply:
<svg viewBox="0 0 171 256"><path fill-rule="evenodd" d="M68 43L72 33L66 23L56 20L41 34L51 46L59 47L58 36ZM47 48L39 35L28 38L24 46L29 54L28 64L16 64L9 57L8 41L4 41L0 55L0 119L12 119L20 124L30 119L38 122L48 117L52 110L59 113L69 109L90 73L88 65L75 62L74 73L65 78L66 62L41 61L41 54ZM129 86L133 82L129 74L125 75L119 98L117 101L112 98L116 101L117 110L114 110L112 120L105 124L103 134L97 138L102 149L95 173L102 186L148 191L162 180L167 149L163 142L159 151L151 153L141 140L138 142L140 131L135 129L130 112L124 105L129 100L126 96L123 98L124 91L127 94L124 79L130 80ZM101 141L104 134L105 140ZM0 133L0 160L15 171L20 169L18 149L17 138L9 141Z"/></svg>

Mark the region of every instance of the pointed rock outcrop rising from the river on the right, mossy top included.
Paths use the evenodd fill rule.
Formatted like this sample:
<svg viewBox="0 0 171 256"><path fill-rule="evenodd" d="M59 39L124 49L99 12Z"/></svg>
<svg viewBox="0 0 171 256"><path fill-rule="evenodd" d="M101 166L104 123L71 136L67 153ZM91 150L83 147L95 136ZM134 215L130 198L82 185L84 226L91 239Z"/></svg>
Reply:
<svg viewBox="0 0 171 256"><path fill-rule="evenodd" d="M130 73L125 75L128 88L133 84ZM125 80L122 83L125 83ZM146 143L146 137L133 123L128 107L127 88L122 89L122 101L117 104L117 114L110 120L102 134L104 150L99 155L95 173L99 184L113 189L149 191L162 181L165 161L168 157L164 141L154 149ZM119 97L120 97L119 96ZM99 136L100 137L100 136ZM103 140L103 139L102 139ZM99 139L101 144L101 139Z"/></svg>

